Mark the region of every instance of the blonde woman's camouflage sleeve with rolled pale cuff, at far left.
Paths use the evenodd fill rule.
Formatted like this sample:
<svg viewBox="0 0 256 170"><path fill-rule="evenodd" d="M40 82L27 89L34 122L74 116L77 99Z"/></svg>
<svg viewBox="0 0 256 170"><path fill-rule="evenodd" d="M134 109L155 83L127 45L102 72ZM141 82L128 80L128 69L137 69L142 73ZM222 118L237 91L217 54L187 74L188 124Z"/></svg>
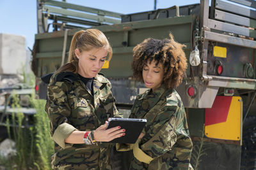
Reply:
<svg viewBox="0 0 256 170"><path fill-rule="evenodd" d="M71 113L68 105L65 90L67 86L63 82L57 82L56 85L47 87L47 102L45 111L47 112L51 122L52 139L61 146L66 148L70 144L65 143L65 139L77 129L68 124L67 117Z"/></svg>

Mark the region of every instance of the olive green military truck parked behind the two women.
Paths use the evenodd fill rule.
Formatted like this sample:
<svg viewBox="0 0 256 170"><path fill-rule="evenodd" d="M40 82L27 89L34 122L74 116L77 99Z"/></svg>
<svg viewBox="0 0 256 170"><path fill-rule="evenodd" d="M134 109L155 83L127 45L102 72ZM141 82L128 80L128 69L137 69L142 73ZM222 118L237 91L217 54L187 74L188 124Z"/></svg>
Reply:
<svg viewBox="0 0 256 170"><path fill-rule="evenodd" d="M145 38L164 39L172 32L186 45L187 76L176 90L188 115L194 166L200 162L198 169L255 169L255 8L253 0L201 0L122 15L38 0L32 64L37 94L46 97L47 85L40 77L67 61L72 35L93 27L113 46L102 73L112 83L116 106L129 111L145 90L143 83L132 80L132 48Z"/></svg>

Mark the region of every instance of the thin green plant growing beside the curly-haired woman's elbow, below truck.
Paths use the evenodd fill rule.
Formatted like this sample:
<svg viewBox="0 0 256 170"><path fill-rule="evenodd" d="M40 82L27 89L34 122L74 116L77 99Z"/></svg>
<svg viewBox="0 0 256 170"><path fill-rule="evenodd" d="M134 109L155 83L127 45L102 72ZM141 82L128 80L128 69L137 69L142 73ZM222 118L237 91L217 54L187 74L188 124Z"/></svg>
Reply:
<svg viewBox="0 0 256 170"><path fill-rule="evenodd" d="M194 168L194 170L199 169L200 162L202 162L202 156L207 155L205 150L208 148L205 148L205 143L204 143L204 125L203 125L203 130L202 130L202 136L199 138L198 143L194 143L193 146L193 152L191 155L191 164Z"/></svg>

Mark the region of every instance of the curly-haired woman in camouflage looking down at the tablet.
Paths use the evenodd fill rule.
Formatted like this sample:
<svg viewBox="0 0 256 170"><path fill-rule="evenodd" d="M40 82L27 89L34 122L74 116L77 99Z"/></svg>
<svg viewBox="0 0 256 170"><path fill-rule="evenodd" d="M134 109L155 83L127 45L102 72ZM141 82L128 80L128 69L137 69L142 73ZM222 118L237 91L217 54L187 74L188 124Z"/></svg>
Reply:
<svg viewBox="0 0 256 170"><path fill-rule="evenodd" d="M136 80L149 89L139 94L130 118L146 118L147 125L133 148L130 169L193 169L193 148L186 112L174 90L186 74L184 45L170 39L145 39L135 46L132 70ZM129 150L127 145L116 145Z"/></svg>

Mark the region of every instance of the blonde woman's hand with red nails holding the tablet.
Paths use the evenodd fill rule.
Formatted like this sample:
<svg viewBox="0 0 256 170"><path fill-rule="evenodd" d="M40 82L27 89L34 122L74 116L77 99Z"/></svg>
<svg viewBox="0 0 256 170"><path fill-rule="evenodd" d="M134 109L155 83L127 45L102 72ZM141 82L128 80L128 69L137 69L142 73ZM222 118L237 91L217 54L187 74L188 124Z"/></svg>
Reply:
<svg viewBox="0 0 256 170"><path fill-rule="evenodd" d="M125 135L125 129L121 129L120 126L112 127L110 129L106 129L108 122L104 125L98 127L94 132L94 140L95 141L112 141L115 138L120 138Z"/></svg>

